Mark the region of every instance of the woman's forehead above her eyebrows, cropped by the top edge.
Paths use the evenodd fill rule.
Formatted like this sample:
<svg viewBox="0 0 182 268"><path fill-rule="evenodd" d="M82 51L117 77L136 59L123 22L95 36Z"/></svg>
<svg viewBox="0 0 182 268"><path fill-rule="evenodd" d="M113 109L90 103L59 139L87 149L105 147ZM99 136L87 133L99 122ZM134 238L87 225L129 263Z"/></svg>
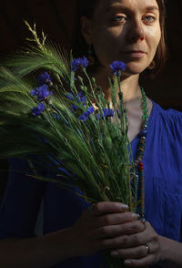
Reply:
<svg viewBox="0 0 182 268"><path fill-rule="evenodd" d="M156 0L99 0L97 10L106 11L115 7L124 7L128 9L156 9L158 8Z"/></svg>

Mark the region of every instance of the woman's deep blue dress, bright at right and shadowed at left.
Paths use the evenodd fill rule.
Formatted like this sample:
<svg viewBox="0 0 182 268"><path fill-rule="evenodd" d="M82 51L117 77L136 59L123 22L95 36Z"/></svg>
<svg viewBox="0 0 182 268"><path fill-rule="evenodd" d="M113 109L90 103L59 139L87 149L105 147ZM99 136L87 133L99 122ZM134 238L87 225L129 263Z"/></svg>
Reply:
<svg viewBox="0 0 182 268"><path fill-rule="evenodd" d="M131 142L136 157L139 137ZM10 178L0 207L0 239L31 237L44 196L43 233L72 226L87 207L86 201L54 183L25 178L25 162L12 160ZM144 154L146 219L158 234L181 242L182 113L164 110L153 102ZM57 268L99 267L99 254L58 263Z"/></svg>

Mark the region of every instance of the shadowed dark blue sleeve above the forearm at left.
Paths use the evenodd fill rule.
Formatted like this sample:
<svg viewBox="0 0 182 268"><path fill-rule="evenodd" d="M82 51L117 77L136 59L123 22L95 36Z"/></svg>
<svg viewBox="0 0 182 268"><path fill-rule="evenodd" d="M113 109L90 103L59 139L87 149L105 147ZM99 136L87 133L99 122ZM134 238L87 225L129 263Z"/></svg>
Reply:
<svg viewBox="0 0 182 268"><path fill-rule="evenodd" d="M25 160L9 160L9 179L0 206L0 239L34 236L45 182L32 179ZM28 172L29 170L29 172Z"/></svg>

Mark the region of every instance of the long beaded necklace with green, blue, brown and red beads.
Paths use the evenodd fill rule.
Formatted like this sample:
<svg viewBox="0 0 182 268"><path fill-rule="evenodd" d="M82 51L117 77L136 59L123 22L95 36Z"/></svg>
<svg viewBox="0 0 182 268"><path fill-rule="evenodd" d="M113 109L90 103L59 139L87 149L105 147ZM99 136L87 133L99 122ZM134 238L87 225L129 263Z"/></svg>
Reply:
<svg viewBox="0 0 182 268"><path fill-rule="evenodd" d="M146 222L145 220L145 178L144 178L144 164L142 162L145 147L146 147L146 138L147 138L147 123L148 123L148 109L147 109L147 98L146 93L143 88L141 89L142 93L142 126L139 133L139 144L136 154L136 160L134 161L134 167L136 172L136 191L139 194L139 199L141 201L139 207L140 220ZM138 191L139 190L139 191Z"/></svg>

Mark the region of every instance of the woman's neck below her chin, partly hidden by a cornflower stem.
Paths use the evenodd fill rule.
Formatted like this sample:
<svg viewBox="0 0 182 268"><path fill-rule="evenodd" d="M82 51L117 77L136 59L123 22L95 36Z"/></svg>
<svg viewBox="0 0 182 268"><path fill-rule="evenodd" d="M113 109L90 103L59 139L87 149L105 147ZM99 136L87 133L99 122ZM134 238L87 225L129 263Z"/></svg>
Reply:
<svg viewBox="0 0 182 268"><path fill-rule="evenodd" d="M91 77L96 78L96 85L102 88L102 91L105 94L105 98L110 102L111 101L111 88L109 86L108 78L111 77L106 70L100 70L95 74L90 74ZM121 90L123 92L124 102L130 100L141 98L141 91L138 84L139 75L121 77ZM118 88L117 88L118 90Z"/></svg>

